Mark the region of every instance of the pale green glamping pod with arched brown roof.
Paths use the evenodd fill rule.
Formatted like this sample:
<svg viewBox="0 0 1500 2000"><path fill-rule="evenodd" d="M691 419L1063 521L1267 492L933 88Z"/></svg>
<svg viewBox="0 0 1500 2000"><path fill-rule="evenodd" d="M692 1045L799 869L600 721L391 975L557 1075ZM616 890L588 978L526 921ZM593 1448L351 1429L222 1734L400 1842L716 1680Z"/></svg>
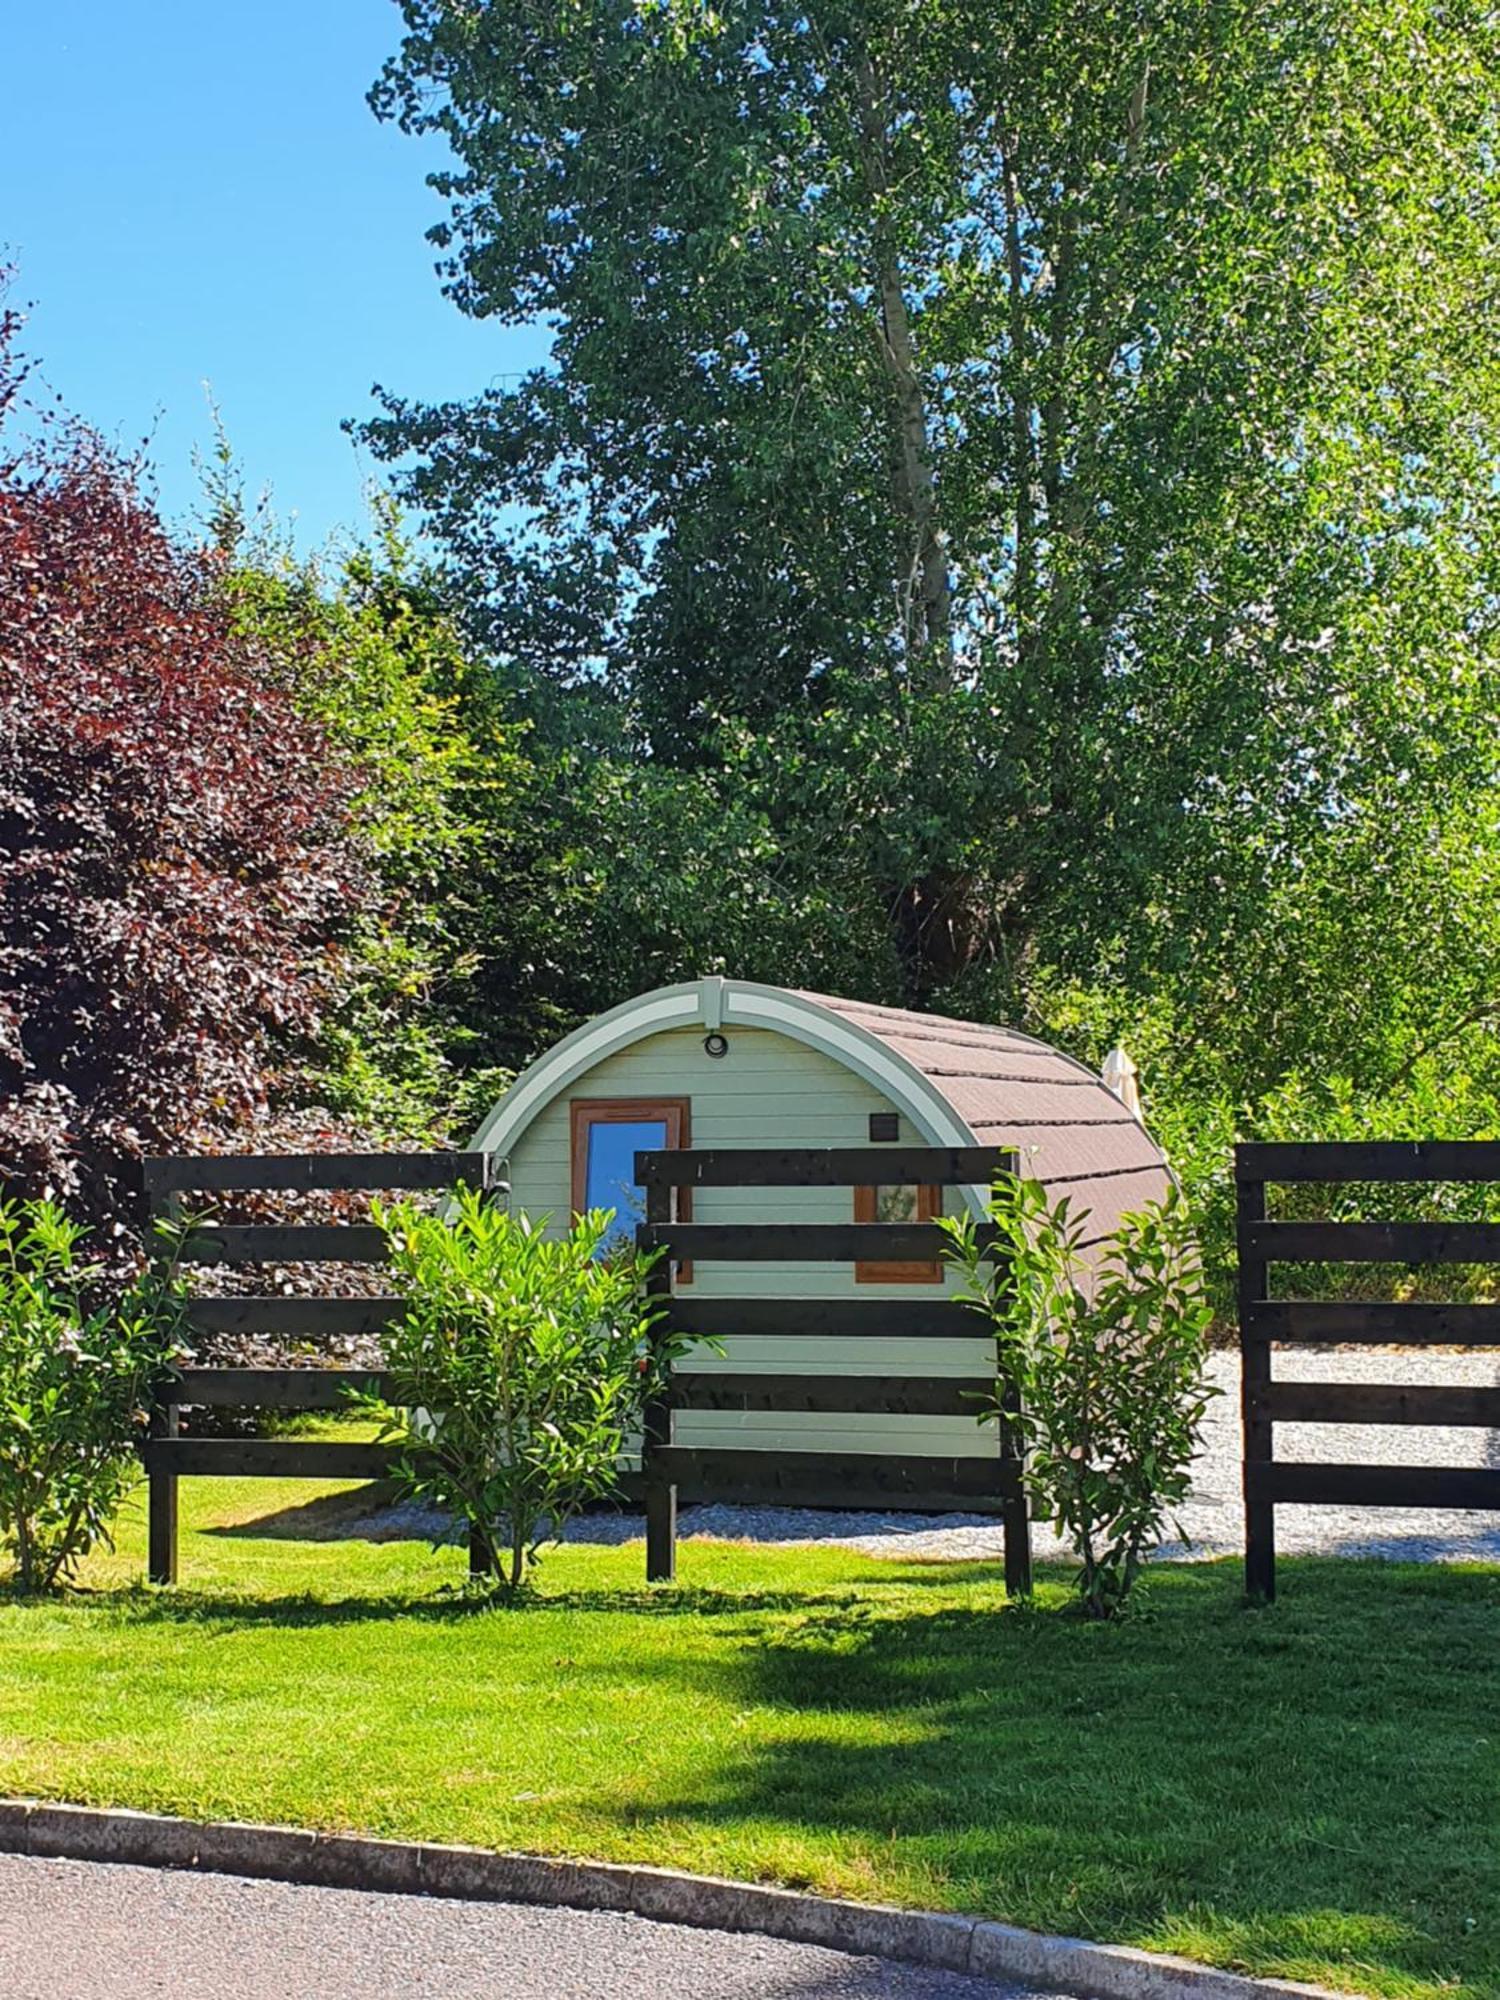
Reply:
<svg viewBox="0 0 1500 2000"><path fill-rule="evenodd" d="M642 1214L638 1150L1008 1146L1054 1198L1066 1194L1076 1212L1090 1212L1088 1236L1098 1238L1168 1188L1166 1160L1128 1108L1132 1094L1118 1088L1012 1028L704 978L626 1000L558 1042L516 1078L470 1146L496 1158L514 1208L556 1224L582 1208L612 1208L622 1232ZM978 1210L982 1194L950 1188L946 1206ZM694 1222L850 1222L914 1220L940 1212L944 1196L694 1188L692 1202ZM700 1298L932 1298L954 1288L938 1264L698 1264L686 1282ZM982 1334L924 1340L922 1372L972 1376L988 1354ZM898 1338L830 1338L814 1348L806 1338L744 1336L728 1358L738 1374L914 1372ZM694 1360L712 1366L712 1356ZM676 1438L766 1450L994 1452L994 1432L966 1416L684 1412Z"/></svg>

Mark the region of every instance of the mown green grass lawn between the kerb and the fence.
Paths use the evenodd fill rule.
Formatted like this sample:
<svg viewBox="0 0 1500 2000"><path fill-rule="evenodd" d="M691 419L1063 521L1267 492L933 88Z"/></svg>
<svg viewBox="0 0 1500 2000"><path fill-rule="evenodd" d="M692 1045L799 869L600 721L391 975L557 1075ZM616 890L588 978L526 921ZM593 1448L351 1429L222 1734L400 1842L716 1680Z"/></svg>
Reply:
<svg viewBox="0 0 1500 2000"><path fill-rule="evenodd" d="M336 1488L184 1482L184 1582L120 1552L0 1604L0 1792L650 1860L1380 1994L1500 1992L1500 1572L1048 1576L684 1544L310 1538ZM314 1498L316 1496L316 1498Z"/></svg>

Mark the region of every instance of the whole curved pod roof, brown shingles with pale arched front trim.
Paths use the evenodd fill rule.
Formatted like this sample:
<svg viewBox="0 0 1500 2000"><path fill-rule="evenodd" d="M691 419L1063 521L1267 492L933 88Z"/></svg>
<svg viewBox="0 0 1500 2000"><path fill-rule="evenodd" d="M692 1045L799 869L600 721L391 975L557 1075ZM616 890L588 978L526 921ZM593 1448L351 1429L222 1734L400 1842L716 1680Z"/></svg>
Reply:
<svg viewBox="0 0 1500 2000"><path fill-rule="evenodd" d="M1082 1062L1034 1036L728 978L660 986L584 1022L516 1078L470 1146L508 1154L542 1106L598 1062L694 1026L768 1028L822 1050L880 1090L930 1146L1014 1146L1024 1172L1092 1212L1090 1240L1166 1194L1166 1160L1140 1120ZM982 1190L966 1196L978 1210Z"/></svg>

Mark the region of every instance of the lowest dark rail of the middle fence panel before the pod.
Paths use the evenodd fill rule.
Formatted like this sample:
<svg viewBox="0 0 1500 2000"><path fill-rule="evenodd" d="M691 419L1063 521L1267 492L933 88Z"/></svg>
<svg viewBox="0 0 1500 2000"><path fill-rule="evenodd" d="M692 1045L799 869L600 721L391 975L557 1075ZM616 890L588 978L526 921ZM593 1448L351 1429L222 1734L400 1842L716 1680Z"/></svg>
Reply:
<svg viewBox="0 0 1500 2000"><path fill-rule="evenodd" d="M656 1454L682 1500L780 1506L916 1508L1000 1514L1016 1468L1000 1458L896 1458L866 1452L688 1450ZM1500 1478L1500 1474L1496 1474Z"/></svg>

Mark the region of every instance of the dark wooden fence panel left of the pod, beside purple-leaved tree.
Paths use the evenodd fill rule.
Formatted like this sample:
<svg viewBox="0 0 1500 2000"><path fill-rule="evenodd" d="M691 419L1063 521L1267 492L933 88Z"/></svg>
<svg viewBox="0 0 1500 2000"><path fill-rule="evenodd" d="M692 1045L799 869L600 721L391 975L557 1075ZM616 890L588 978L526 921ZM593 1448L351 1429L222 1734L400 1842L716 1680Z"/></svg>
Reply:
<svg viewBox="0 0 1500 2000"><path fill-rule="evenodd" d="M146 1160L146 1202L152 1214L190 1214L198 1204L234 1192L444 1192L454 1186L488 1186L490 1156L440 1154L216 1154L206 1158ZM188 1264L382 1264L384 1238L368 1222L208 1222L184 1244ZM398 1300L350 1296L194 1298L188 1336L262 1334L272 1340L338 1340L378 1332L398 1310ZM182 1408L338 1410L352 1390L380 1390L368 1368L182 1368L158 1384L150 1438L148 1570L156 1584L178 1574L178 1480L300 1478L366 1480L390 1470L392 1452L380 1444L318 1438L184 1438ZM488 1552L470 1548L476 1568Z"/></svg>

